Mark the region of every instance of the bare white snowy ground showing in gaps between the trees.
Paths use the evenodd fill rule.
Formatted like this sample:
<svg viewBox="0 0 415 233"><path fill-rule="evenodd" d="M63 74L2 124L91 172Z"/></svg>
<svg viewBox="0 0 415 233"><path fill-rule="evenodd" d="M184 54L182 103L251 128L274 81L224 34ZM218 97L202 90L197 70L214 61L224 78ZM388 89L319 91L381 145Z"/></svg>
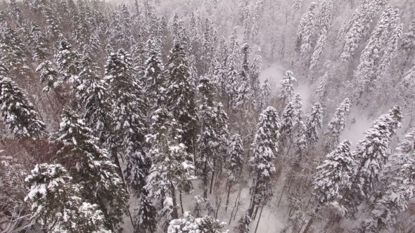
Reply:
<svg viewBox="0 0 415 233"><path fill-rule="evenodd" d="M260 81L263 82L266 78L269 79L270 86L272 87L273 95L276 95L276 92L279 90L279 82L283 79L283 75L286 72L283 66L279 64L269 65L269 67L265 67L262 70ZM303 103L303 111L307 112L309 107L312 105L311 97L314 93L314 86L310 85L308 81L298 81L298 85L295 86L295 93L299 93L302 97ZM385 106L386 112L388 106ZM331 114L331 113L329 113ZM350 115L347 118L347 126L343 134L341 135L341 140L348 139L352 142L352 147L355 147L356 143L364 137L364 132L369 129L371 126L373 119L376 119L378 115L369 117L369 114L362 109L361 106L352 105L350 108ZM407 123L402 123L402 128L397 132L397 138L402 137L402 131L407 128ZM324 128L322 129L324 131ZM279 204L279 199L281 197L281 192L283 192L283 186L285 185L285 171L281 173L279 180L277 180L276 184L274 185L274 198L272 201L269 202L267 206L264 206L264 210L262 211L262 215L260 218L260 223L257 225L257 221L259 219L258 215L260 215L260 211L257 213L257 218L250 223L250 233L260 232L260 233L278 233L281 232L288 220L288 200L286 199L286 191L283 193L281 198L281 203ZM233 192L231 192L231 196L229 197L229 208L225 212L225 201L222 200L221 206L219 208L217 219L226 222L225 229L229 229L229 232L234 232L234 227L238 225L238 220L241 218L241 215L248 211L250 206L250 193L249 188L252 185L252 178L248 179L248 183L243 186L241 189L241 197L240 197L240 206L237 209L236 215L234 218L231 218L231 212L234 208L235 201L238 197L238 185L233 188ZM183 207L184 211L191 211L196 203L195 197L199 195L200 197L203 196L203 191L198 187L199 181L193 181L194 190L191 194L184 194L183 195ZM221 187L222 189L219 190L221 192L222 197L226 199L226 190L224 189L224 185ZM220 189L220 188L219 188ZM212 201L212 205L215 206L215 194L208 194L208 198ZM177 199L179 199L177 197ZM132 197L130 199L130 211L131 213L134 212L134 209L137 208L138 201L136 198ZM181 213L179 211L179 213ZM203 213L201 215L208 214ZM231 223L229 224L229 220L231 218ZM345 222L343 222L345 223ZM129 217L125 217L125 224L123 226L125 233L134 232L134 228L132 227L132 222L129 220ZM158 233L162 233L162 229L158 229Z"/></svg>

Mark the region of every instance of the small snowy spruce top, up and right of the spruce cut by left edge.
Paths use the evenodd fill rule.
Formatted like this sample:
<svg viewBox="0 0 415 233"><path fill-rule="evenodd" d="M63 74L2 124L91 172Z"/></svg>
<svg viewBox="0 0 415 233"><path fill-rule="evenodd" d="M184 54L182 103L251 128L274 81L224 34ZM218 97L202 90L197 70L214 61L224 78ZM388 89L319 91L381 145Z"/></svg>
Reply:
<svg viewBox="0 0 415 233"><path fill-rule="evenodd" d="M41 62L37 67L36 72L39 73L41 84L46 84L43 88L43 91L46 93L55 91L63 84L58 72L50 60Z"/></svg>

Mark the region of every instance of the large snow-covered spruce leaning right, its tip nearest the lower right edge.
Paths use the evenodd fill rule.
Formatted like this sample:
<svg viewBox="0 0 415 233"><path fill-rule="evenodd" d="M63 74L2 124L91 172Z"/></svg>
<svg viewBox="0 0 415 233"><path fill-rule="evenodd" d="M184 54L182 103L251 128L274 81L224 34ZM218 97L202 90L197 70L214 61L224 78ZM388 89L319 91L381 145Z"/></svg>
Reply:
<svg viewBox="0 0 415 233"><path fill-rule="evenodd" d="M350 215L357 211L359 204L371 196L381 175L383 166L390 156L392 136L400 127L402 115L400 107L393 107L373 122L366 131L364 139L357 142L353 156L358 160L352 186L343 197Z"/></svg>

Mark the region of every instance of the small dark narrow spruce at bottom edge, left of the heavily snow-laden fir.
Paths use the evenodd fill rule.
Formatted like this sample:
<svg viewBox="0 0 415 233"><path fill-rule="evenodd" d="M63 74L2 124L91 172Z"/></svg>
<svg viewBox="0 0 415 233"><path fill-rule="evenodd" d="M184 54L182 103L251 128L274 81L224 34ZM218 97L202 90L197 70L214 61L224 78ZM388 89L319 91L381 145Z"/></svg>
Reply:
<svg viewBox="0 0 415 233"><path fill-rule="evenodd" d="M146 189L141 190L139 208L134 215L134 222L136 224L136 233L139 232L155 232L157 222L157 210L153 206L151 199L148 197Z"/></svg>

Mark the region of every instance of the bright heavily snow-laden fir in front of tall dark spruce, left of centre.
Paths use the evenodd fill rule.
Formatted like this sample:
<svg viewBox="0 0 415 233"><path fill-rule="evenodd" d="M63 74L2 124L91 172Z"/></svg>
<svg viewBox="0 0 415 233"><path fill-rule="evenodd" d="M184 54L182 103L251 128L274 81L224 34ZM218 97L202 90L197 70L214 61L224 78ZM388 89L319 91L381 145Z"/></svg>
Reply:
<svg viewBox="0 0 415 233"><path fill-rule="evenodd" d="M153 116L151 134L147 136L151 142L149 152L153 165L147 176L145 189L148 197L159 201L158 214L163 219L179 218L180 203L177 193L191 191L191 173L194 170L191 156L181 141L181 125L167 109L158 109ZM180 204L180 205L179 205Z"/></svg>

